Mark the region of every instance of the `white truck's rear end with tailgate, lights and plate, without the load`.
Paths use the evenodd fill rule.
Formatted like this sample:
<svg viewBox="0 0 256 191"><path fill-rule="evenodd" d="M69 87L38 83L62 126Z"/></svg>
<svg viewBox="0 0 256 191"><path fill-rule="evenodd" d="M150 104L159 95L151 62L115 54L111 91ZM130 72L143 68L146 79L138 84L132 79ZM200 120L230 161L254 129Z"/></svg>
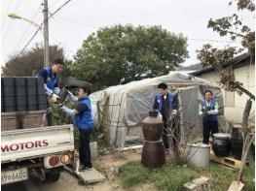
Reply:
<svg viewBox="0 0 256 191"><path fill-rule="evenodd" d="M75 157L73 125L17 129L1 133L1 184L30 177L56 181Z"/></svg>

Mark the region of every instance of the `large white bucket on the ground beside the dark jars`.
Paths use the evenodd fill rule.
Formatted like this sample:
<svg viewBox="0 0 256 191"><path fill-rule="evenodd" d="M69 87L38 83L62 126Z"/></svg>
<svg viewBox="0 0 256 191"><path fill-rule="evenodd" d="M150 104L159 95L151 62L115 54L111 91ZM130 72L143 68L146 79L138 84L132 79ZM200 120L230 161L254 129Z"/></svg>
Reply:
<svg viewBox="0 0 256 191"><path fill-rule="evenodd" d="M204 143L192 143L186 146L188 162L196 167L209 165L210 145Z"/></svg>

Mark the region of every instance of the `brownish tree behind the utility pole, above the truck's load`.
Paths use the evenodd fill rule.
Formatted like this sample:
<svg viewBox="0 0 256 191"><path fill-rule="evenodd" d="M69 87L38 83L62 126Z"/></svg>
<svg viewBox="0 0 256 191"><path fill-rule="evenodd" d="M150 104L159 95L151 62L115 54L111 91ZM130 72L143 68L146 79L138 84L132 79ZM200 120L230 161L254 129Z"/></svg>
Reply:
<svg viewBox="0 0 256 191"><path fill-rule="evenodd" d="M63 48L58 46L50 46L50 60L55 58L64 59L65 63L70 63L65 58ZM68 65L67 64L67 65ZM3 76L9 77L33 77L38 71L44 67L44 47L43 45L36 45L23 52L20 56L18 53L11 55L6 65L2 67ZM67 68L67 66L65 66ZM68 73L64 69L65 74Z"/></svg>

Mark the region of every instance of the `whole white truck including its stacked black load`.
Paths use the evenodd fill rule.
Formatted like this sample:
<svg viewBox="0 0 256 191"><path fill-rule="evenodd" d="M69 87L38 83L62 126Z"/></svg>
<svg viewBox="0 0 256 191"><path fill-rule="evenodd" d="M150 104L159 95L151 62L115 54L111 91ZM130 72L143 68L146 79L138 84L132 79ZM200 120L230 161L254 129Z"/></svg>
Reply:
<svg viewBox="0 0 256 191"><path fill-rule="evenodd" d="M1 78L1 184L56 181L75 160L73 125L47 126L43 78Z"/></svg>

